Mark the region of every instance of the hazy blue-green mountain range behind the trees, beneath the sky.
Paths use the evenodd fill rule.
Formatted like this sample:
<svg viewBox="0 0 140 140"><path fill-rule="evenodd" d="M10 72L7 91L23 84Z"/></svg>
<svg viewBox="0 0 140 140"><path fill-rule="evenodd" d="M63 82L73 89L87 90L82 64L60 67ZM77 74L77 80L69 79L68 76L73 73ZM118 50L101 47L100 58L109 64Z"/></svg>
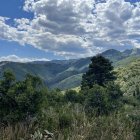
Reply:
<svg viewBox="0 0 140 140"><path fill-rule="evenodd" d="M115 67L122 67L139 58L140 49L123 52L110 49L101 55L110 59ZM80 85L82 74L87 71L90 59L91 57L30 63L0 62L0 77L4 70L11 69L17 80L22 80L27 73L30 73L41 77L49 88L74 88Z"/></svg>

